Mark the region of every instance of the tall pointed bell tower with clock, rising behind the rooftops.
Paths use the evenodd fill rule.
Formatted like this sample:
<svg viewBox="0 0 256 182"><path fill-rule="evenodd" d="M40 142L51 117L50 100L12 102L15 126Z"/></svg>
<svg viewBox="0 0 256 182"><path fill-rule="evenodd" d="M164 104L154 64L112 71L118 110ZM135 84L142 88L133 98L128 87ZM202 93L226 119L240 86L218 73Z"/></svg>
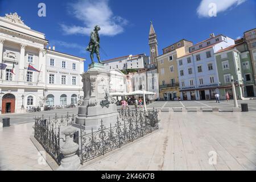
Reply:
<svg viewBox="0 0 256 182"><path fill-rule="evenodd" d="M148 45L150 46L150 61L151 63L155 63L156 57L158 56L158 39L156 38L152 21L150 25L150 34L148 36Z"/></svg>

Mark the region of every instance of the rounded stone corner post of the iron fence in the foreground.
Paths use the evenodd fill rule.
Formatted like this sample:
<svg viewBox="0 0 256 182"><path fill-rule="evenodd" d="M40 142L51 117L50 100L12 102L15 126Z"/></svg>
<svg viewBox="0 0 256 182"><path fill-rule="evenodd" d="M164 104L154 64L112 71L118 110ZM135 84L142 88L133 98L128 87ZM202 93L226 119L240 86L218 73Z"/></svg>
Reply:
<svg viewBox="0 0 256 182"><path fill-rule="evenodd" d="M76 171L80 166L80 158L76 155L79 145L73 142L73 135L76 129L72 126L65 129L62 133L65 135L65 143L60 147L64 159L61 160L58 171Z"/></svg>

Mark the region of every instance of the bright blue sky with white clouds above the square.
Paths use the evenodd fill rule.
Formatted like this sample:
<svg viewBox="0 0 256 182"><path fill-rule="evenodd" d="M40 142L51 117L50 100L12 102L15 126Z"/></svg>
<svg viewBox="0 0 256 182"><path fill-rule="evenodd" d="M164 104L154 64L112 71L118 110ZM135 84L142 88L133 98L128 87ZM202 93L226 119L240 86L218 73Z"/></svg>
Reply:
<svg viewBox="0 0 256 182"><path fill-rule="evenodd" d="M46 17L38 16L38 4L46 4ZM217 16L210 17L209 3L216 5ZM102 28L102 60L124 55L149 55L150 20L162 48L180 39L194 44L210 33L236 39L256 27L255 0L0 0L0 16L17 12L33 30L46 34L56 51L85 57L85 70L90 63L85 47L95 24Z"/></svg>

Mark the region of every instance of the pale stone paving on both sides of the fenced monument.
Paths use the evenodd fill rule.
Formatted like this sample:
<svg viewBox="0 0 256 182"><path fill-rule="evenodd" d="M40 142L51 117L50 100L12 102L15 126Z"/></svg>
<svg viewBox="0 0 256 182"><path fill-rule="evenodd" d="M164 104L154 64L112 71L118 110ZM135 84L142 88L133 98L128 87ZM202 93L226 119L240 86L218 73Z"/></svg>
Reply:
<svg viewBox="0 0 256 182"><path fill-rule="evenodd" d="M256 112L162 112L159 130L80 170L256 170ZM51 170L38 164L32 123L0 128L0 170ZM209 164L209 152L217 164Z"/></svg>

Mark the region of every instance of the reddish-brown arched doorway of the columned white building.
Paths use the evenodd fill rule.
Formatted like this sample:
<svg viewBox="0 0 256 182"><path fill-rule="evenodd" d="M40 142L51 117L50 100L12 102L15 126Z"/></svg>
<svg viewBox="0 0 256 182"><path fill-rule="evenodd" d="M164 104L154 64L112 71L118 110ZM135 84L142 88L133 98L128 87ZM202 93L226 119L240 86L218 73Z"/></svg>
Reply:
<svg viewBox="0 0 256 182"><path fill-rule="evenodd" d="M15 113L15 96L10 93L2 98L2 114L6 113Z"/></svg>

